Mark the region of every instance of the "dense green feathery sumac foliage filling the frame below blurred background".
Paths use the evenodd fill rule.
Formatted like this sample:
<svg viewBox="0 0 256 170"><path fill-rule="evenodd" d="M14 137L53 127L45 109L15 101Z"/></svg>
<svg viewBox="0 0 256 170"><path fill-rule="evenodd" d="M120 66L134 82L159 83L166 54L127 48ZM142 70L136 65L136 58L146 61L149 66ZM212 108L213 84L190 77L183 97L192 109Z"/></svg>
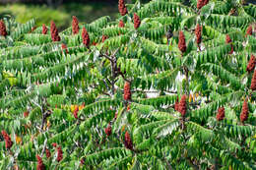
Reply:
<svg viewBox="0 0 256 170"><path fill-rule="evenodd" d="M256 37L246 31L256 7L182 2L126 4L117 20L81 22L78 34L70 27L54 42L49 27L32 30L34 20L4 19L0 169L255 169L256 93L246 67Z"/></svg>

